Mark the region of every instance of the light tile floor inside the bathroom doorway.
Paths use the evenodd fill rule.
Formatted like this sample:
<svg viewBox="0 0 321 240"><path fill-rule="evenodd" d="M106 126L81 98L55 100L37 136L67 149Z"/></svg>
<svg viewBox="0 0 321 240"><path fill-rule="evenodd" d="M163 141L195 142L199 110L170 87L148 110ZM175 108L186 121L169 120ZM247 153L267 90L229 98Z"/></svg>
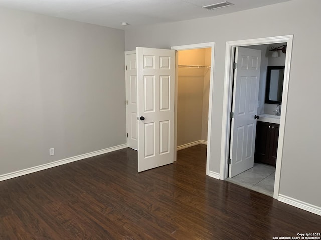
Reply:
<svg viewBox="0 0 321 240"><path fill-rule="evenodd" d="M248 169L233 178L227 178L226 180L273 197L274 178L274 166L254 163L254 167L251 169Z"/></svg>

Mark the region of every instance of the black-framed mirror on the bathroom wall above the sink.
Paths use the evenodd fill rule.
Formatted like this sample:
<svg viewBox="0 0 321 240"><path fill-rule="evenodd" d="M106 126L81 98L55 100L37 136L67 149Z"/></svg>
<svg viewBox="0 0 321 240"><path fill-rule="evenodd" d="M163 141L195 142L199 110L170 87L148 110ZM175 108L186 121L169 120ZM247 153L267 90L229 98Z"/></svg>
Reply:
<svg viewBox="0 0 321 240"><path fill-rule="evenodd" d="M284 66L268 66L266 75L265 103L282 104Z"/></svg>

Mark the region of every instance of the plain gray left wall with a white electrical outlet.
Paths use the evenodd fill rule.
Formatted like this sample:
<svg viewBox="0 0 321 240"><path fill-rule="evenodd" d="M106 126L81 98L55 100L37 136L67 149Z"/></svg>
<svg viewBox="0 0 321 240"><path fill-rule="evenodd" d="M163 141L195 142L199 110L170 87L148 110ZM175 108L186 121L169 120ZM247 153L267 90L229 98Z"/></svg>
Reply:
<svg viewBox="0 0 321 240"><path fill-rule="evenodd" d="M0 29L0 175L126 143L124 31L9 9Z"/></svg>

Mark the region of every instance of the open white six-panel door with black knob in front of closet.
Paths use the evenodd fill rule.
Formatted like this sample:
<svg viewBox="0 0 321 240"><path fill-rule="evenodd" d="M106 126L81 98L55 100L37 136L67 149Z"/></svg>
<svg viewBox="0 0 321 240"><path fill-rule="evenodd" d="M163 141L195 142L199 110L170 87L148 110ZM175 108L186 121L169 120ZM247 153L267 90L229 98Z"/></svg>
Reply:
<svg viewBox="0 0 321 240"><path fill-rule="evenodd" d="M138 172L174 161L175 51L137 47Z"/></svg>

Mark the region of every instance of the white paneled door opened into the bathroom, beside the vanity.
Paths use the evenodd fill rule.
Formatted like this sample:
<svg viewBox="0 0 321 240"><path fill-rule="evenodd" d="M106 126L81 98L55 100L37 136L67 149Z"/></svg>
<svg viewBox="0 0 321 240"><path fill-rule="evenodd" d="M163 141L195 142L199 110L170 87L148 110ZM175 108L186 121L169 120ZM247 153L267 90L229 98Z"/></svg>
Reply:
<svg viewBox="0 0 321 240"><path fill-rule="evenodd" d="M254 166L261 51L236 47L229 177Z"/></svg>

